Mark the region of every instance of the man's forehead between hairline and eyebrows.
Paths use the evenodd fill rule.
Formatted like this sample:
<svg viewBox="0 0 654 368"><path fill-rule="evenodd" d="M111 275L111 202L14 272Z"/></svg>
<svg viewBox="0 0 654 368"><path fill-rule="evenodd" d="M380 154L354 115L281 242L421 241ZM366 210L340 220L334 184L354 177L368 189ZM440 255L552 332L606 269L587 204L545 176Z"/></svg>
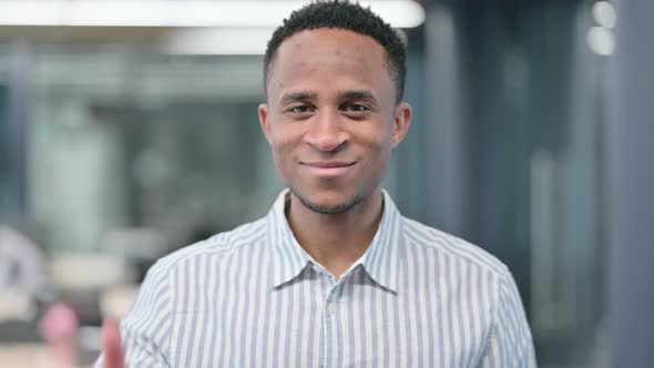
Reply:
<svg viewBox="0 0 654 368"><path fill-rule="evenodd" d="M386 50L374 38L349 30L304 30L288 37L268 70L268 92L323 83L338 82L391 88Z"/></svg>

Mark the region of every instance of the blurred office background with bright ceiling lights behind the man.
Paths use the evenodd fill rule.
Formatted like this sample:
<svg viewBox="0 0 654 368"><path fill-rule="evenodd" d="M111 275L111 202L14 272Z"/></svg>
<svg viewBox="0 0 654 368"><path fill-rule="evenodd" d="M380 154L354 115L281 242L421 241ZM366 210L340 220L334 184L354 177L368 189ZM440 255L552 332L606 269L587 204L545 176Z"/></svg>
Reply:
<svg viewBox="0 0 654 368"><path fill-rule="evenodd" d="M539 366L648 366L654 3L371 3L409 45L400 209L509 265ZM262 54L297 7L0 0L0 366L90 365L157 257L267 212Z"/></svg>

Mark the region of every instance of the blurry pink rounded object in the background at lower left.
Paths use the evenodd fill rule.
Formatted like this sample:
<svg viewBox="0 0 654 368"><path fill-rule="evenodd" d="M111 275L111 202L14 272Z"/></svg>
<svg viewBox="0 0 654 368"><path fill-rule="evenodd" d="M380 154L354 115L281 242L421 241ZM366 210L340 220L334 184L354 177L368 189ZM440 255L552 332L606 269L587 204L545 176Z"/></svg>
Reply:
<svg viewBox="0 0 654 368"><path fill-rule="evenodd" d="M63 303L57 303L39 323L41 337L52 349L59 364L72 367L76 361L76 336L80 323L74 310Z"/></svg>

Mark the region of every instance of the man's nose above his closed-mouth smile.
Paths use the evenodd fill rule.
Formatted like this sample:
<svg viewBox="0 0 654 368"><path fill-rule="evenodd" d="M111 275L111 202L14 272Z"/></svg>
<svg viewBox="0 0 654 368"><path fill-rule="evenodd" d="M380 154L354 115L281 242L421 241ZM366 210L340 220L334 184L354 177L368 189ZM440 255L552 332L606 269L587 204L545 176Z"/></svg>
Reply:
<svg viewBox="0 0 654 368"><path fill-rule="evenodd" d="M304 136L305 142L324 152L343 147L350 135L340 126L337 114L321 112L316 117Z"/></svg>

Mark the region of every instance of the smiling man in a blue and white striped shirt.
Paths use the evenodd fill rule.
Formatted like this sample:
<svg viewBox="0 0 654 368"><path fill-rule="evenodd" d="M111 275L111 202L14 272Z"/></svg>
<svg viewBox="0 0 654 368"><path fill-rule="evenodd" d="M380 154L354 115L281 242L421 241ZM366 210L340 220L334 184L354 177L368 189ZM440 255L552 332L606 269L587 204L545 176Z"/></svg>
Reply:
<svg viewBox="0 0 654 368"><path fill-rule="evenodd" d="M259 121L288 190L153 266L121 325L127 366L535 365L507 267L381 188L411 121L405 62L358 4L313 3L275 31ZM104 344L120 365L115 324Z"/></svg>

